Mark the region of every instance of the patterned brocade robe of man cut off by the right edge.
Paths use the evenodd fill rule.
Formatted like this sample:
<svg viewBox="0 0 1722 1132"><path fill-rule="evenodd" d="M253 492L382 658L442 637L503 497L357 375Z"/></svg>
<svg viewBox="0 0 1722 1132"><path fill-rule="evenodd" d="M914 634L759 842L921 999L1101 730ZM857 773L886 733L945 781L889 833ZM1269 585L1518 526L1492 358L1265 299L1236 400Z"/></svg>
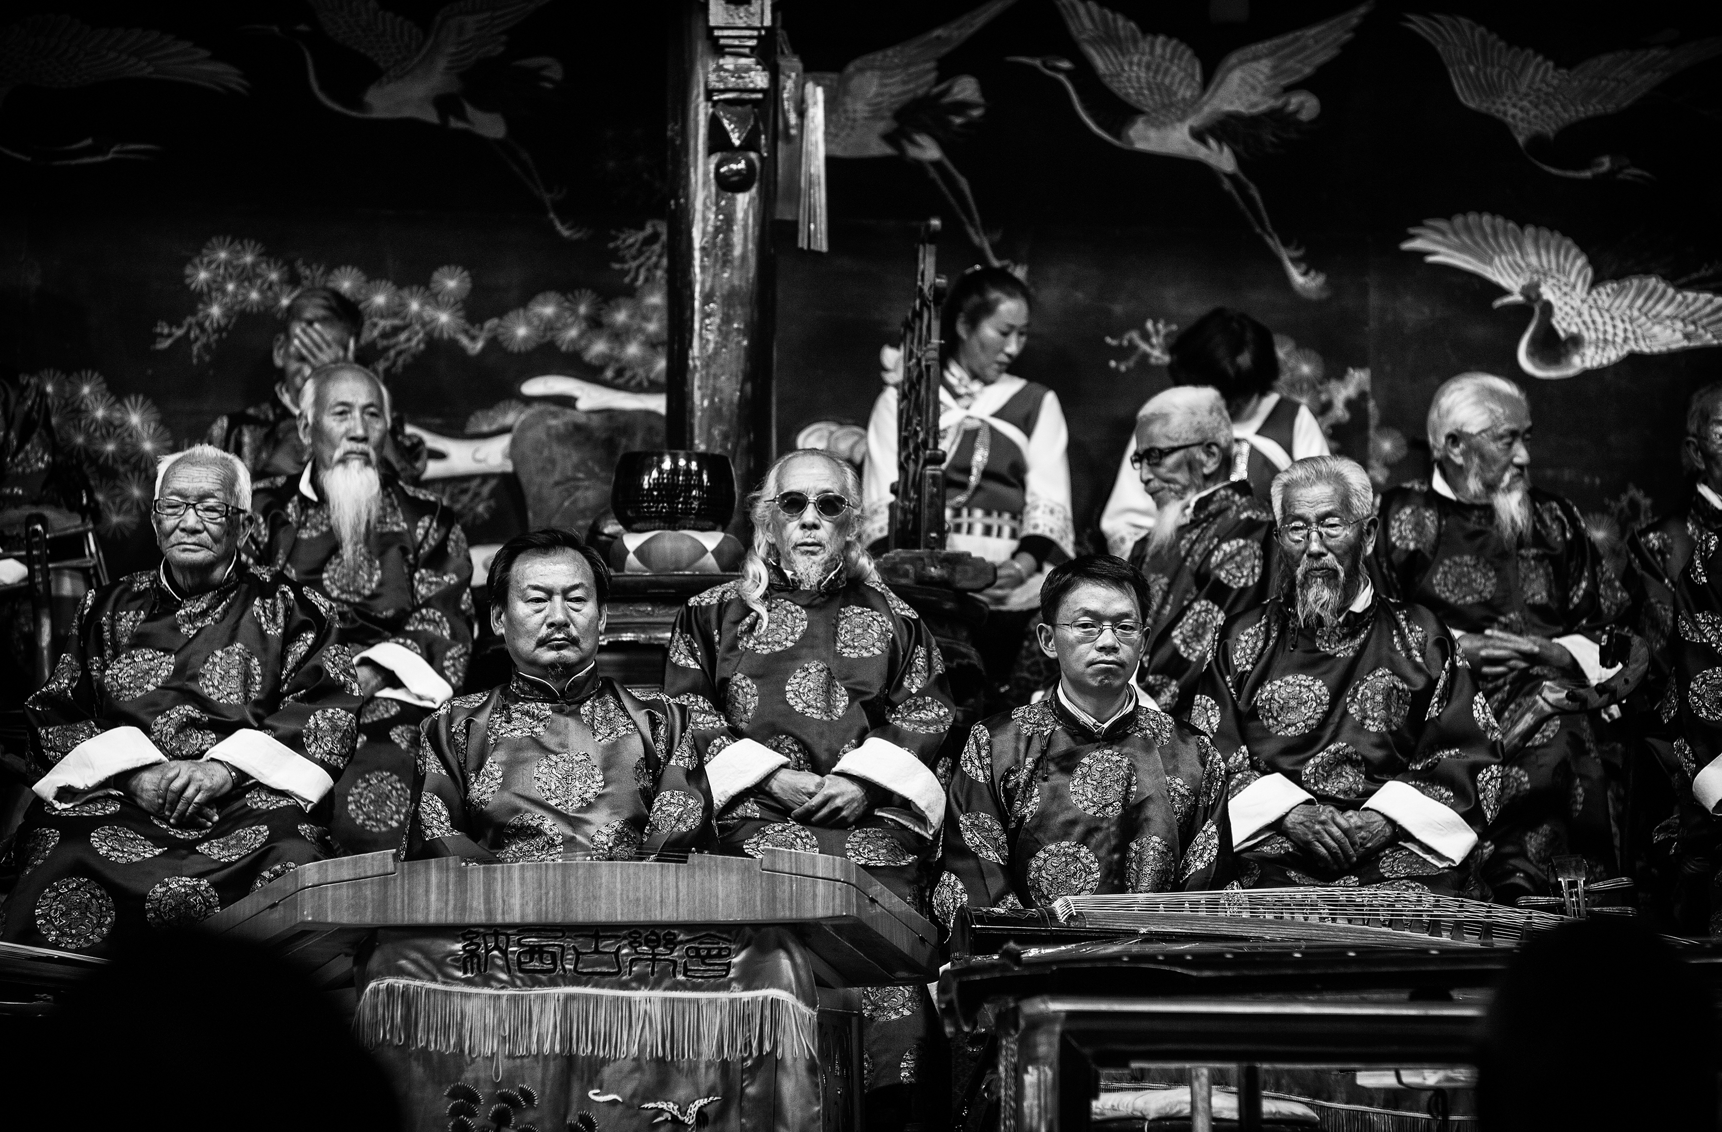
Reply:
<svg viewBox="0 0 1722 1132"><path fill-rule="evenodd" d="M1722 499L1700 487L1684 514L1638 530L1627 549L1643 588L1638 631L1653 657L1641 688L1645 702L1655 702L1645 738L1676 797L1676 812L1657 826L1653 841L1672 843L1674 858L1693 869L1693 874L1679 871L1684 883L1698 886L1681 893L1681 927L1719 934Z"/></svg>

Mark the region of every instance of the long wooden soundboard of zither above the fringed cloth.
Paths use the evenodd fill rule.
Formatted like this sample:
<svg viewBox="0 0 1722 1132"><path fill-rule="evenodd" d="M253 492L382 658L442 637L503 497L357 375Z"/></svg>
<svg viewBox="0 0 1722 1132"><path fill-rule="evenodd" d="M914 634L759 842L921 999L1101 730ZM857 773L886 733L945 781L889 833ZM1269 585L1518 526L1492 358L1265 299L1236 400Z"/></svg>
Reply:
<svg viewBox="0 0 1722 1132"><path fill-rule="evenodd" d="M251 939L344 982L379 927L780 924L813 953L825 986L926 982L937 931L854 862L765 850L682 862L549 860L475 865L394 853L301 865L203 926Z"/></svg>

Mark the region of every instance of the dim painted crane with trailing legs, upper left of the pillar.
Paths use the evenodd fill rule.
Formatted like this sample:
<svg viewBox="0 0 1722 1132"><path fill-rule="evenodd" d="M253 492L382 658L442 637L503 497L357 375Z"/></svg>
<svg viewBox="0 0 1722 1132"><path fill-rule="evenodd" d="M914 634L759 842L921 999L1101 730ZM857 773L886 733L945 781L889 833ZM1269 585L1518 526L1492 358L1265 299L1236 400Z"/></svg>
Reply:
<svg viewBox="0 0 1722 1132"><path fill-rule="evenodd" d="M511 58L503 67L484 69L482 79L479 72L480 64L508 50L510 29L549 0L455 0L437 10L429 33L377 0L310 3L325 36L382 72L356 100L336 98L319 77L317 57L301 34L308 28L263 28L305 53L305 76L317 102L353 119L417 120L484 138L544 205L558 236L582 239L587 234L556 215L560 191L544 184L532 155L510 136L508 119L489 108L499 95L554 89L561 83L561 64L548 57Z"/></svg>

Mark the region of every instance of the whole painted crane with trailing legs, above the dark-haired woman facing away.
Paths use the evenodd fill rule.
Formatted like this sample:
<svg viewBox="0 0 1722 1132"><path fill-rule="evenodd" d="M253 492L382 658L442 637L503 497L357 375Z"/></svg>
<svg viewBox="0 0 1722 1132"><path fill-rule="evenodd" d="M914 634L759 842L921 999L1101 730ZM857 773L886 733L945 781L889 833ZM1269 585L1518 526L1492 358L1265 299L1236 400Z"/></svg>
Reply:
<svg viewBox="0 0 1722 1132"><path fill-rule="evenodd" d="M1274 231L1255 184L1238 167L1240 155L1271 151L1321 114L1321 102L1292 84L1340 53L1371 3L1242 46L1221 60L1207 88L1195 52L1171 36L1143 34L1137 24L1093 0L1057 0L1071 38L1093 72L1130 112L1116 112L1078 91L1068 58L1016 57L1064 84L1083 126L1121 150L1202 162L1214 170L1307 299L1328 296L1328 279L1304 263L1300 248ZM1240 191L1242 189L1242 191Z"/></svg>

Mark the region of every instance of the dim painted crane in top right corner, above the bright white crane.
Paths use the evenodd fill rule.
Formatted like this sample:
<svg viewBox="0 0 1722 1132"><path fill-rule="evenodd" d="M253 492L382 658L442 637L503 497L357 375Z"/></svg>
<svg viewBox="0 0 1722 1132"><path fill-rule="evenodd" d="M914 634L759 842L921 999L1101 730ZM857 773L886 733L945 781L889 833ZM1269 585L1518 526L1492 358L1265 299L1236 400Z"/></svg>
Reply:
<svg viewBox="0 0 1722 1132"><path fill-rule="evenodd" d="M1524 155L1558 177L1648 181L1650 174L1620 155L1564 169L1538 153L1574 122L1619 114L1677 72L1722 55L1722 36L1712 36L1681 46L1608 52L1564 71L1460 15L1407 15L1405 26L1440 52L1459 102L1507 126Z"/></svg>

